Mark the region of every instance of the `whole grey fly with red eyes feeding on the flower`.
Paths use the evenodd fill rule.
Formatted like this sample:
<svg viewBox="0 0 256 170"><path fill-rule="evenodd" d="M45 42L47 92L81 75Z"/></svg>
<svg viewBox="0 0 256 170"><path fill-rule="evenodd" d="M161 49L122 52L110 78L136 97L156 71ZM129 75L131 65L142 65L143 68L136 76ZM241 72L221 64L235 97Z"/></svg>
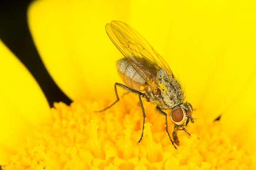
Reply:
<svg viewBox="0 0 256 170"><path fill-rule="evenodd" d="M124 58L117 61L118 74L124 84L115 83L117 100L110 106L97 112L107 110L120 100L117 86L128 92L135 93L138 95L143 113L142 133L138 143L141 142L143 137L146 118L141 100L141 97L143 97L156 106L158 113L165 116L166 133L174 148L177 149L174 145L174 143L179 145L177 131L184 130L184 132L190 135L185 128L189 121L194 123L192 105L184 102L184 94L180 83L174 77L172 70L164 59L129 25L120 21L112 21L106 25L106 31L110 40L124 56ZM166 113L164 110L171 110L171 112ZM173 140L168 131L168 115L174 122Z"/></svg>

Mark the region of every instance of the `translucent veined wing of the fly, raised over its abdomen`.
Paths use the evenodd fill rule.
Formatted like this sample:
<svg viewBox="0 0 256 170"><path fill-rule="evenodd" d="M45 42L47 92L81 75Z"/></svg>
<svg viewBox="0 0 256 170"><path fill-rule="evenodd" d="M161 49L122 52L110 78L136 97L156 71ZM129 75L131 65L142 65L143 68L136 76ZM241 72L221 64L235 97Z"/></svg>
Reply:
<svg viewBox="0 0 256 170"><path fill-rule="evenodd" d="M124 57L132 63L153 91L158 90L157 72L164 70L174 77L169 65L154 50L153 47L133 28L121 21L112 21L106 25L110 40L122 52Z"/></svg>

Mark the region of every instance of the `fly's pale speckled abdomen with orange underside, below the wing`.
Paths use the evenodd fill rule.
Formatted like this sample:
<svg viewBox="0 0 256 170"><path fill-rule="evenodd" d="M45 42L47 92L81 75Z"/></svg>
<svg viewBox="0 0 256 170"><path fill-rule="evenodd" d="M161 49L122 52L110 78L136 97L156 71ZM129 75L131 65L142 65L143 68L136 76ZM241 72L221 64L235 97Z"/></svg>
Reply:
<svg viewBox="0 0 256 170"><path fill-rule="evenodd" d="M145 91L146 81L127 59L122 58L117 61L117 70L121 79L128 87L137 91Z"/></svg>

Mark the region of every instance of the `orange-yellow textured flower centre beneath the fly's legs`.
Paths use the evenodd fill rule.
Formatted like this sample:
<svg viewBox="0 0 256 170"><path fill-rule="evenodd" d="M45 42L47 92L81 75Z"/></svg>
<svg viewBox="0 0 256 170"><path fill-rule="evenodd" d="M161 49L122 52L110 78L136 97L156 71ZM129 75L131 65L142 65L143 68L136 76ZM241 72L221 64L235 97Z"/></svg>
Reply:
<svg viewBox="0 0 256 170"><path fill-rule="evenodd" d="M165 117L149 102L144 136L142 112L137 97L125 95L121 102L105 112L107 101L75 101L71 106L56 103L51 120L28 138L25 148L14 155L5 167L14 169L190 169L247 167L255 169L252 153L243 142L222 132L220 123L197 120L177 132L180 145L174 149L164 130ZM194 112L193 112L194 113ZM199 111L194 115L200 116ZM172 121L169 131L172 134ZM197 136L199 138L197 138ZM246 156L244 156L246 155Z"/></svg>

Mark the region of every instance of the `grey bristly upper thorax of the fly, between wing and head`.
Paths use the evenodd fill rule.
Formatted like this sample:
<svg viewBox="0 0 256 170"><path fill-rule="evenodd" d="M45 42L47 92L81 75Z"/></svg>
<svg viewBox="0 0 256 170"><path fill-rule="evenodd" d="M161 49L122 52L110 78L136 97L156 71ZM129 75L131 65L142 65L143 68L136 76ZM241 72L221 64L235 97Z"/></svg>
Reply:
<svg viewBox="0 0 256 170"><path fill-rule="evenodd" d="M179 82L164 72L164 70L158 71L157 78L158 88L164 103L169 107L175 107L181 104L184 100L184 95Z"/></svg>

